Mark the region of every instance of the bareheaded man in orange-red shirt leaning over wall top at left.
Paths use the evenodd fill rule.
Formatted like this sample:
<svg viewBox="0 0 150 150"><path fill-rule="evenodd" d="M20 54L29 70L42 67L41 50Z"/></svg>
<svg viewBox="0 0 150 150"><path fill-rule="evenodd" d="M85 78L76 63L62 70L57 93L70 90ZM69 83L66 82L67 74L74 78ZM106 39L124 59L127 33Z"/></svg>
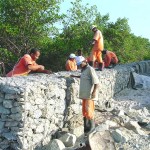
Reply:
<svg viewBox="0 0 150 150"><path fill-rule="evenodd" d="M45 70L44 66L38 65L36 60L40 57L40 50L33 48L29 54L25 54L13 67L6 77L26 76L31 71L50 74L50 70Z"/></svg>

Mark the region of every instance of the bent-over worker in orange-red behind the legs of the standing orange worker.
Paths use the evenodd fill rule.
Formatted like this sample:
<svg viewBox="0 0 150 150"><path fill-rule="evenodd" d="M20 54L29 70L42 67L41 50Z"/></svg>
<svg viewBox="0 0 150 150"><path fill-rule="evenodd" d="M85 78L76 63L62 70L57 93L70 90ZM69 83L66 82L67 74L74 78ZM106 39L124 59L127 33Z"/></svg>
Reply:
<svg viewBox="0 0 150 150"><path fill-rule="evenodd" d="M114 52L103 50L105 68L114 67L118 63L118 58Z"/></svg>

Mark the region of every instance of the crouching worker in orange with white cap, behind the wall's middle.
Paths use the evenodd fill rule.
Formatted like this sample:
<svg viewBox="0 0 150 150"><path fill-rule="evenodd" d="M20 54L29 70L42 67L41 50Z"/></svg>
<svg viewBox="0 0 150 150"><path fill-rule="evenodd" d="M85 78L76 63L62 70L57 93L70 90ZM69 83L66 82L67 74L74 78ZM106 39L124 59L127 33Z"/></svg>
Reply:
<svg viewBox="0 0 150 150"><path fill-rule="evenodd" d="M77 70L77 64L76 64L76 55L75 54L70 54L69 59L66 62L66 70L67 71L76 71Z"/></svg>

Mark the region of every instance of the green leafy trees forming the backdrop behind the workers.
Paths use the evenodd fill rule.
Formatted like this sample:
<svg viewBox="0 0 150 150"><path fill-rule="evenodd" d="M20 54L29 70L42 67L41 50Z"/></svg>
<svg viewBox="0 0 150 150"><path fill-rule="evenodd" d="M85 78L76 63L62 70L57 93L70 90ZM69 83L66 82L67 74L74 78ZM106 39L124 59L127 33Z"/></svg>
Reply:
<svg viewBox="0 0 150 150"><path fill-rule="evenodd" d="M53 71L64 70L70 53L82 49L89 56L93 32L97 25L104 36L104 48L114 51L120 63L150 59L150 41L131 33L128 19L109 21L96 6L83 5L82 0L71 2L66 14L59 12L61 0L1 0L0 1L0 59L22 56L31 47L40 47L40 63ZM62 31L58 32L55 23Z"/></svg>

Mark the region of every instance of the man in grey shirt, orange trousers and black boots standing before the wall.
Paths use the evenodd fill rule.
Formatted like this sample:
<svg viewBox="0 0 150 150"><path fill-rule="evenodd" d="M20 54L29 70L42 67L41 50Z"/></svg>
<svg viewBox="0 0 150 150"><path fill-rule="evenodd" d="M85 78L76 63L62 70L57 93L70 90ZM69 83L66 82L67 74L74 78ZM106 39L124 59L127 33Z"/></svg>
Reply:
<svg viewBox="0 0 150 150"><path fill-rule="evenodd" d="M71 77L80 78L79 98L82 99L84 133L86 135L95 129L94 101L98 99L99 79L95 69L87 63L87 60L83 58L78 62L78 65L81 67L81 75L71 75Z"/></svg>

